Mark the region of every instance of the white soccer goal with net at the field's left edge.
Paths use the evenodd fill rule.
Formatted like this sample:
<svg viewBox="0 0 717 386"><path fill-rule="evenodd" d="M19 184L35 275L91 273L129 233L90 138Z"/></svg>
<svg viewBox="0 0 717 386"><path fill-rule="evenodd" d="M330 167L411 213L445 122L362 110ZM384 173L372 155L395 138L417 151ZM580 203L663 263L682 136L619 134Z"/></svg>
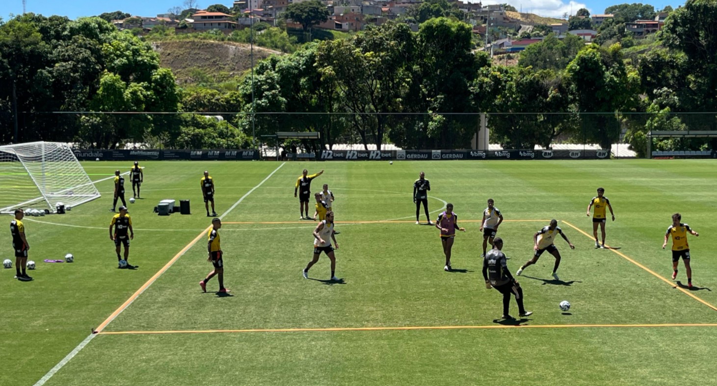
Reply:
<svg viewBox="0 0 717 386"><path fill-rule="evenodd" d="M0 145L0 213L16 208L54 212L57 203L77 206L99 197L67 144Z"/></svg>

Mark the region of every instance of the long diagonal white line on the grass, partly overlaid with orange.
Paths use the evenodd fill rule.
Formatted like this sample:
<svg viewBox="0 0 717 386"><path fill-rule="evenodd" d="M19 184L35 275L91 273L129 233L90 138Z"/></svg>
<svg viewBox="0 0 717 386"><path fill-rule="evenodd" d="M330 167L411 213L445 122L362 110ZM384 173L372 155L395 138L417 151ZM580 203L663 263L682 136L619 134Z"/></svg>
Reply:
<svg viewBox="0 0 717 386"><path fill-rule="evenodd" d="M229 212L231 212L234 208L236 208L237 205L239 205L239 203L244 201L244 198L247 198L247 196L249 196L250 193L252 193L254 190L257 190L257 188L259 188L263 183L265 183L284 164L285 163L282 163L281 165L279 165L278 168L274 169L274 171L272 171L269 175L267 175L267 178L264 178L264 180L262 180L262 182L260 182L258 185L256 185L251 190L249 190L246 194L244 194L244 196L242 196L242 198L239 198L239 200L236 203L234 203L234 205L232 205L231 208L229 208L227 211L222 213L222 216L220 216L219 218L224 218L224 216L227 216L227 214L229 214ZM204 231L201 231L201 233L199 233L199 236L196 236L196 238L194 238L194 240L192 240L191 243L187 244L179 254L174 256L174 259L172 259L165 266L163 266L162 269L159 270L156 274L154 274L154 276L152 276L151 279L149 279L143 286L141 286L141 288L138 291L136 291L132 296L130 296L130 299L125 301L124 304L122 304L120 306L120 308L116 309L115 312L113 312L110 315L110 317L108 317L108 319L105 320L105 322L103 322L103 324L100 324L100 327L98 327L98 329L96 329L94 332L92 332L92 334L90 334L89 337L85 338L85 340L80 342L80 344L77 344L77 347L75 347L75 349L73 349L70 352L70 354L67 354L67 356L60 361L60 363L57 363L57 365L52 367L52 369L50 369L49 372L47 372L47 374L44 375L44 377L40 378L40 380L37 381L37 383L35 383L35 386L44 385L45 382L47 382L50 378L52 378L52 375L54 375L56 372L60 371L60 369L62 369L62 367L67 365L67 362L70 362L70 360L72 360L72 358L74 358L75 355L77 355L77 353L79 353L81 349L83 349L85 346L87 346L88 343L90 343L92 338L95 337L95 332L101 332L105 327L107 327L108 324L110 324L110 322L115 320L115 318L118 317L125 309L127 309L127 307L129 307L130 304L132 304L133 301L135 301L135 299L137 299L138 296L143 294L143 292L146 291L146 289L148 289L149 286L151 286L154 283L154 281L156 281L159 278L159 276L161 276L161 274L166 272L172 266L172 264L174 264L177 260L179 260L179 258L182 255L184 255L186 253L186 251L189 251L189 249L191 249L191 247L194 246L194 243L199 241L199 238L201 238L201 236L204 236Z"/></svg>

